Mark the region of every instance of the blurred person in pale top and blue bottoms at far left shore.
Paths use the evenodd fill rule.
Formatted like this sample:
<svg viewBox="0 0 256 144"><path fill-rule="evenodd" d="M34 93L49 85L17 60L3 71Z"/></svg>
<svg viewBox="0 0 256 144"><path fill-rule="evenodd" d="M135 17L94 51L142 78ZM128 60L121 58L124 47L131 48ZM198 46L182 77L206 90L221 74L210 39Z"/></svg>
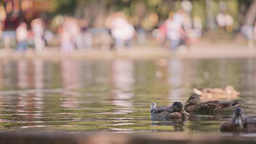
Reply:
<svg viewBox="0 0 256 144"><path fill-rule="evenodd" d="M16 50L25 52L27 49L27 24L25 22L20 23L16 29L16 39L18 42Z"/></svg>

